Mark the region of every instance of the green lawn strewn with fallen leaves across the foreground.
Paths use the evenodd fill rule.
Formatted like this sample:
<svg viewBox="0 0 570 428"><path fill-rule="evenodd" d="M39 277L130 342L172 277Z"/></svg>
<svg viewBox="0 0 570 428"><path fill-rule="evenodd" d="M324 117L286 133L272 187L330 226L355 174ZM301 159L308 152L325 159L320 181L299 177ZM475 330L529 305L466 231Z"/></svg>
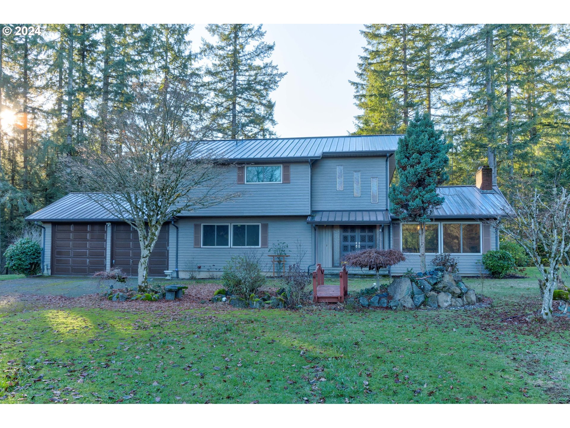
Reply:
<svg viewBox="0 0 570 428"><path fill-rule="evenodd" d="M539 307L534 277L483 290L492 306L470 311L177 313L149 302L130 313L0 300L0 403L568 402L570 318L501 322Z"/></svg>

